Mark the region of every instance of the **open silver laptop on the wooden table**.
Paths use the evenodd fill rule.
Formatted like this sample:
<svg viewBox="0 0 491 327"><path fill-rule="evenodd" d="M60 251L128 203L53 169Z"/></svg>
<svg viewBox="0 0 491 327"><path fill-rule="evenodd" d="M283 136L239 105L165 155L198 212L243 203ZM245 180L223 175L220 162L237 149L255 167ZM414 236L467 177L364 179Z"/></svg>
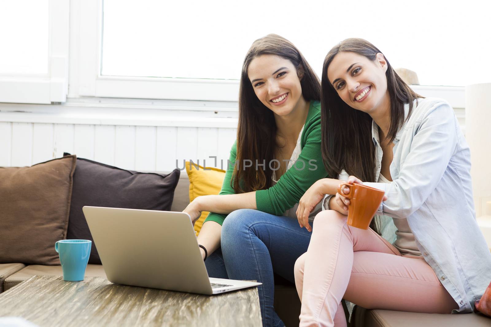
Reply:
<svg viewBox="0 0 491 327"><path fill-rule="evenodd" d="M187 213L91 206L82 210L113 283L208 295L261 285L209 278Z"/></svg>

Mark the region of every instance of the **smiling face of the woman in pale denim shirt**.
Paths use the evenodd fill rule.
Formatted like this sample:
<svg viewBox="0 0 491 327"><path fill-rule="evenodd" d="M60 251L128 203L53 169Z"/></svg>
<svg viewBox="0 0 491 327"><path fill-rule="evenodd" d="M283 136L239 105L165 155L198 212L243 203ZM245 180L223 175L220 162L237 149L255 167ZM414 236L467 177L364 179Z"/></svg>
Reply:
<svg viewBox="0 0 491 327"><path fill-rule="evenodd" d="M350 51L340 51L327 68L327 78L339 97L354 109L370 115L390 110L387 62L382 53L375 61Z"/></svg>

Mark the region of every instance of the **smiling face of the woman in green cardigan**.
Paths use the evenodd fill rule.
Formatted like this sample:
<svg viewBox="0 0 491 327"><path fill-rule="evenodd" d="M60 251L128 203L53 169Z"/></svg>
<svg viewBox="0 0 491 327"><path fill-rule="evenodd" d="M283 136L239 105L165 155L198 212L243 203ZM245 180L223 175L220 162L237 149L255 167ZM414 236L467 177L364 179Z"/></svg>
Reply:
<svg viewBox="0 0 491 327"><path fill-rule="evenodd" d="M301 76L293 63L274 54L252 59L247 75L257 98L278 116L294 115L305 106Z"/></svg>

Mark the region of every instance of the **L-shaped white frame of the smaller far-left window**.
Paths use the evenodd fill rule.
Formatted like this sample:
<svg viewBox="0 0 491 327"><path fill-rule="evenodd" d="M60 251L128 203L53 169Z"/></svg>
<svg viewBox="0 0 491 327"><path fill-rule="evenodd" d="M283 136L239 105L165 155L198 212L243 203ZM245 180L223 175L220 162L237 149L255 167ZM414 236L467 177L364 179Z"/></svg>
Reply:
<svg viewBox="0 0 491 327"><path fill-rule="evenodd" d="M68 93L70 2L49 0L48 74L0 75L0 102L65 102Z"/></svg>

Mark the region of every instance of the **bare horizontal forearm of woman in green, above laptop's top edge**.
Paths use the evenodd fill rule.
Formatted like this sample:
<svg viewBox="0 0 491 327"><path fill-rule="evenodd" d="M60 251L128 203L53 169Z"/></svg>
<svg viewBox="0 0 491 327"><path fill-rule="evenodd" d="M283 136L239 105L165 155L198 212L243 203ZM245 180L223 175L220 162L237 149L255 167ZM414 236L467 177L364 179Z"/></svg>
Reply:
<svg viewBox="0 0 491 327"><path fill-rule="evenodd" d="M241 194L207 195L198 197L200 211L229 214L238 209L257 209L256 192Z"/></svg>

